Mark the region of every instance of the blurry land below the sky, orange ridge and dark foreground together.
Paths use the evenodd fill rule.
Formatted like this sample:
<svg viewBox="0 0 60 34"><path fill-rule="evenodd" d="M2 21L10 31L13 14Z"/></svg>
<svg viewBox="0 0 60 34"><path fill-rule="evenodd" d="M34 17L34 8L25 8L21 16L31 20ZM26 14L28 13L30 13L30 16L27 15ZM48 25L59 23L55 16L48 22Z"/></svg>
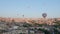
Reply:
<svg viewBox="0 0 60 34"><path fill-rule="evenodd" d="M60 18L0 17L0 34L60 34Z"/></svg>

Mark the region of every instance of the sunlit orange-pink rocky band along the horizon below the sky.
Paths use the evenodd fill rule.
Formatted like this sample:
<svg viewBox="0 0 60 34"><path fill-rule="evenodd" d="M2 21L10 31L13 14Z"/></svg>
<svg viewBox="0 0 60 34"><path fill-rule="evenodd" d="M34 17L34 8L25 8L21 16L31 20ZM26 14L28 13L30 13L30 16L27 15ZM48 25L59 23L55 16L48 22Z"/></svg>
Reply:
<svg viewBox="0 0 60 34"><path fill-rule="evenodd" d="M60 18L56 18L57 20L60 20ZM43 23L47 23L47 24L51 24L55 21L55 18L47 18L47 19L43 19L43 18L2 18L0 17L0 21L4 21L4 22L12 22L12 20L14 20L14 22L27 22L27 23L32 23L32 21L35 21L36 23L39 24L43 24Z"/></svg>

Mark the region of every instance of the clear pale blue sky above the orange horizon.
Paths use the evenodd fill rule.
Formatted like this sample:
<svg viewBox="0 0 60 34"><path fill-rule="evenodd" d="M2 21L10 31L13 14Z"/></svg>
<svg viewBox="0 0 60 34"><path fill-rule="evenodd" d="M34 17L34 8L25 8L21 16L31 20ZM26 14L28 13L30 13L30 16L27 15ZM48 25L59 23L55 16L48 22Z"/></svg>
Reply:
<svg viewBox="0 0 60 34"><path fill-rule="evenodd" d="M60 0L0 0L0 17L60 17Z"/></svg>

